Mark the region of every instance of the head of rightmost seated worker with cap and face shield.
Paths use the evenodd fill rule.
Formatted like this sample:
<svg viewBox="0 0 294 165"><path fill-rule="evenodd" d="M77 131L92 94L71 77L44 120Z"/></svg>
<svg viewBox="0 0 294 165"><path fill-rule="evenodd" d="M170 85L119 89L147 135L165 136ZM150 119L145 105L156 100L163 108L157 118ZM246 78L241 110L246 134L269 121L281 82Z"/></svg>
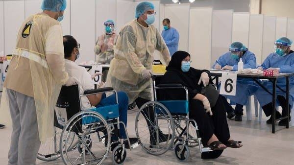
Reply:
<svg viewBox="0 0 294 165"><path fill-rule="evenodd" d="M275 42L274 51L279 56L283 57L289 54L291 51L292 40L287 37L282 37Z"/></svg>

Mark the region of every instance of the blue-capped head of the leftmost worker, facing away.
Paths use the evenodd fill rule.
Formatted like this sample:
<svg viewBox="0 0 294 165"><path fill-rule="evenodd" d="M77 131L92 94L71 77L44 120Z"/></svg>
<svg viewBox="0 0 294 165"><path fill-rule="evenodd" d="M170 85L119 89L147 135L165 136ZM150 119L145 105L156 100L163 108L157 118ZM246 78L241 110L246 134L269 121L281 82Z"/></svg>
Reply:
<svg viewBox="0 0 294 165"><path fill-rule="evenodd" d="M66 9L66 0L43 0L41 9L51 18L62 21L64 10Z"/></svg>

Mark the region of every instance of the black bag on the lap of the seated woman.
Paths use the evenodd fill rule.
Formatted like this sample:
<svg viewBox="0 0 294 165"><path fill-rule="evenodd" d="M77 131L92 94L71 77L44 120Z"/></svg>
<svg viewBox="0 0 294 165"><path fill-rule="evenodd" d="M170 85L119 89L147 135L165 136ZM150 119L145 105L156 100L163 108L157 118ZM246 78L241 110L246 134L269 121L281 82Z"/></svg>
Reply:
<svg viewBox="0 0 294 165"><path fill-rule="evenodd" d="M202 87L201 94L207 97L210 107L214 107L218 101L220 92L216 89L213 84L208 84L206 87Z"/></svg>

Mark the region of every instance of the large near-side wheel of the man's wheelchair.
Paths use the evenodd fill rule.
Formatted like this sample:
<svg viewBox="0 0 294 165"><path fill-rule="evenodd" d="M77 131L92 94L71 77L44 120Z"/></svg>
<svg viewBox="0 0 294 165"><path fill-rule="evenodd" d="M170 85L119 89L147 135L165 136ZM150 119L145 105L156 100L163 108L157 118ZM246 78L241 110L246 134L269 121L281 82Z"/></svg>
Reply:
<svg viewBox="0 0 294 165"><path fill-rule="evenodd" d="M104 134L100 136L99 134ZM110 143L105 144L101 137L110 141L107 121L97 112L82 111L69 119L61 137L66 144L71 134L75 134L74 148L63 145L61 157L65 165L101 165L108 155ZM73 147L72 147L73 148Z"/></svg>

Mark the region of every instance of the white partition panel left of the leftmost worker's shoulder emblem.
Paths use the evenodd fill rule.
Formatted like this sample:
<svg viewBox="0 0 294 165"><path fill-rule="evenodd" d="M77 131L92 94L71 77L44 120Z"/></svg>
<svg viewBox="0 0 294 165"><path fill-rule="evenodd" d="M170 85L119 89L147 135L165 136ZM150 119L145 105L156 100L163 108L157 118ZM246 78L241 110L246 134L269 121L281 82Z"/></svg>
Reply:
<svg viewBox="0 0 294 165"><path fill-rule="evenodd" d="M4 0L4 50L5 55L11 54L20 26L25 20L24 0Z"/></svg>

